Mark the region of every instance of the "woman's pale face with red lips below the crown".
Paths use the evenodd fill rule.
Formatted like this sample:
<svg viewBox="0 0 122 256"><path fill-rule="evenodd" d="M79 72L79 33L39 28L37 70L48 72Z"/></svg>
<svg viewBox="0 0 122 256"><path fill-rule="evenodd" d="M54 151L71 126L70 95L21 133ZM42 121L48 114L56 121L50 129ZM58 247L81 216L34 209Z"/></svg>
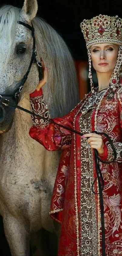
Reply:
<svg viewBox="0 0 122 256"><path fill-rule="evenodd" d="M91 46L91 60L96 72L111 73L117 63L118 45L97 44Z"/></svg>

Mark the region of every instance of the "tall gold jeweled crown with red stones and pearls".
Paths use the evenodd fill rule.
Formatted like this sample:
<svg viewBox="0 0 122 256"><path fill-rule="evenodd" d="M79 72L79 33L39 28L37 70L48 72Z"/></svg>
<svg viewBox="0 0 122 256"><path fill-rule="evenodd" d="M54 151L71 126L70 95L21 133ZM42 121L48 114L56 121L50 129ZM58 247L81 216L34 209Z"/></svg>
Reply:
<svg viewBox="0 0 122 256"><path fill-rule="evenodd" d="M100 43L122 45L122 19L118 16L99 15L81 22L86 46Z"/></svg>

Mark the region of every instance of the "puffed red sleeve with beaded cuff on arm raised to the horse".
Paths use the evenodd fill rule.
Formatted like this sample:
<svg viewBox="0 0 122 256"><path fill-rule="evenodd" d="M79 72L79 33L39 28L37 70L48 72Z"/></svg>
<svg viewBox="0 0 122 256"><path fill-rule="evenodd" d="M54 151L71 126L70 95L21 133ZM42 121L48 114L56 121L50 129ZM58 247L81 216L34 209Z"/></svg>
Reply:
<svg viewBox="0 0 122 256"><path fill-rule="evenodd" d="M32 116L33 126L30 128L29 135L38 141L47 150L54 151L66 149L71 146L72 132L50 122L50 113L46 104L42 89L30 94L30 108L35 114L45 117L45 121ZM73 128L74 115L78 105L62 118L54 118L53 121L63 124L68 128Z"/></svg>

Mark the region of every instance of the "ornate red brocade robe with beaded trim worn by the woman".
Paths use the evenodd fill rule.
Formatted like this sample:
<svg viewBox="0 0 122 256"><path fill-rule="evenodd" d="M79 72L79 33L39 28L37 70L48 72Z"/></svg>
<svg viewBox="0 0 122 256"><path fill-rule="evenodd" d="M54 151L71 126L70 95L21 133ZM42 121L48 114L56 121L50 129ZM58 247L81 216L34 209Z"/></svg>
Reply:
<svg viewBox="0 0 122 256"><path fill-rule="evenodd" d="M102 256L101 207L96 178L94 150L87 139L49 123L48 107L42 90L30 95L31 110L46 121L32 117L30 136L47 150L62 150L51 200L51 217L61 223L58 255ZM117 159L100 162L104 179L104 225L106 256L122 256L122 85L84 97L69 114L55 122L82 133L105 132L113 140ZM112 160L113 152L103 137L103 160Z"/></svg>

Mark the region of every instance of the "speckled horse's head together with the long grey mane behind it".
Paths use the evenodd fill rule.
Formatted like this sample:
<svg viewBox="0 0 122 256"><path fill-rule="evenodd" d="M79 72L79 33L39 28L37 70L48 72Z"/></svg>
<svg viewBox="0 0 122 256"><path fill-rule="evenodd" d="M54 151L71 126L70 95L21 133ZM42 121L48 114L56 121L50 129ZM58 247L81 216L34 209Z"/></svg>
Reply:
<svg viewBox="0 0 122 256"><path fill-rule="evenodd" d="M78 103L76 71L64 40L44 20L35 17L37 9L37 0L25 0L22 10L10 5L0 9L0 95L7 98L6 95L15 94L28 71L34 49L33 33L29 25L32 27L33 24L36 58L39 61L42 57L49 70L43 92L51 117L58 117L68 113ZM38 81L38 67L32 64L28 79L19 94L19 101L35 90ZM8 99L14 101L13 97ZM13 115L13 108L0 101L0 133L10 129Z"/></svg>

